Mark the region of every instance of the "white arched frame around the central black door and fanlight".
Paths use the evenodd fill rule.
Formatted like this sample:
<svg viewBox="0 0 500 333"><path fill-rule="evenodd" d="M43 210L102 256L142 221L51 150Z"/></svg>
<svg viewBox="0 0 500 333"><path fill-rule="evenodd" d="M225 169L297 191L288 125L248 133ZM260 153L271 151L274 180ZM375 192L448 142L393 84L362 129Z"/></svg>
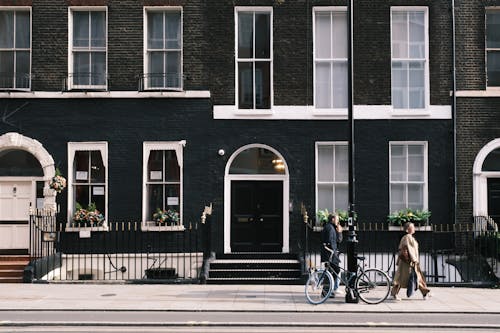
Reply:
<svg viewBox="0 0 500 333"><path fill-rule="evenodd" d="M232 175L229 174L229 169L234 159L244 150L250 148L263 148L276 154L284 163L285 173L278 175ZM233 180L278 180L283 182L283 253L290 252L290 216L289 216L289 202L290 202L290 180L288 165L283 156L274 148L260 143L249 144L237 149L228 159L224 173L224 253L231 253L231 182Z"/></svg>

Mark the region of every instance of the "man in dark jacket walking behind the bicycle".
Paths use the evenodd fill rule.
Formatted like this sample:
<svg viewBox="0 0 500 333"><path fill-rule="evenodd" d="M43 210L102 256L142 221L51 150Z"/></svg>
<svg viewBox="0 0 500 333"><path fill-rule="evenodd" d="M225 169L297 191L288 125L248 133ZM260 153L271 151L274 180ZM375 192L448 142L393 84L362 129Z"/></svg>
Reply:
<svg viewBox="0 0 500 333"><path fill-rule="evenodd" d="M338 243L342 242L342 227L339 224L338 215L328 215L328 220L323 226L323 231L321 233L321 242L323 243L321 247L321 262L329 262L333 271L336 274L340 273L340 259L338 257ZM325 246L333 250L333 256L330 259L331 252L325 249ZM334 284L333 284L333 293L334 297L335 292L339 288L339 277L338 275L333 274Z"/></svg>

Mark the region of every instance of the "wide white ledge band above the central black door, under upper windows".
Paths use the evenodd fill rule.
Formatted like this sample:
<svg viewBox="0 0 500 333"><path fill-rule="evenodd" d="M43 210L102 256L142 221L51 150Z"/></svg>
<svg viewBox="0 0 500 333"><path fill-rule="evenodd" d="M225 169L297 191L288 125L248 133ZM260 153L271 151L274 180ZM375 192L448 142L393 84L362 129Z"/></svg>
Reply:
<svg viewBox="0 0 500 333"><path fill-rule="evenodd" d="M394 110L391 105L355 105L353 117L380 119L452 119L451 105L430 105L422 110ZM236 105L214 105L214 119L347 120L347 109L316 109L312 105L280 105L270 110L242 110Z"/></svg>

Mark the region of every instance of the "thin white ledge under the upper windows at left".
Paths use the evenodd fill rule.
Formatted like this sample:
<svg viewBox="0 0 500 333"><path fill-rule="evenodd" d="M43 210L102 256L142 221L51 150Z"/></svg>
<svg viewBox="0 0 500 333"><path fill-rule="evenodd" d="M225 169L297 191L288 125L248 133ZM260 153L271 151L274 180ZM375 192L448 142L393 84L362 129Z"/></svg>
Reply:
<svg viewBox="0 0 500 333"><path fill-rule="evenodd" d="M0 92L0 98L210 98L207 90Z"/></svg>

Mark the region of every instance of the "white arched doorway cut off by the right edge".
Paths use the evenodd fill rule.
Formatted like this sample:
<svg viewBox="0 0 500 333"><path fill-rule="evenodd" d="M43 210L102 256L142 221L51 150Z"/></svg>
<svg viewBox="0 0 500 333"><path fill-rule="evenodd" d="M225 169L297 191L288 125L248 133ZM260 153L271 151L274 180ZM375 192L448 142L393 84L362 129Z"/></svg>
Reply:
<svg viewBox="0 0 500 333"><path fill-rule="evenodd" d="M489 216L500 224L500 139L484 146L473 167L474 216Z"/></svg>

